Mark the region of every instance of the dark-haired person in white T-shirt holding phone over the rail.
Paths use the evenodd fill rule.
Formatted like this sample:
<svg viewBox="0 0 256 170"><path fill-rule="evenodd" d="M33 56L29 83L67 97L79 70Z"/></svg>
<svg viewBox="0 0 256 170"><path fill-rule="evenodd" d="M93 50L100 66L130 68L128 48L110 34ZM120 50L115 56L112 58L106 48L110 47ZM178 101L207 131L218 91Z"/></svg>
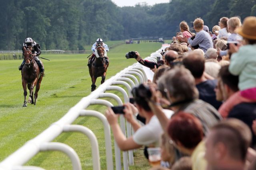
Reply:
<svg viewBox="0 0 256 170"><path fill-rule="evenodd" d="M147 86L144 84L140 84L138 87L135 87L132 90L134 101L136 103L135 106L138 109L139 114L146 118L146 125L141 126L133 116L133 113L136 110L134 109L135 106L130 103L124 104L124 117L129 123L131 123L135 132L134 135L129 138L125 137L125 135L122 133L120 125L118 124L119 115L115 114L111 108L108 108L105 113L108 123L112 129L114 139L121 150L137 149L143 145L149 147L160 146L159 139L163 133L163 129L161 128L157 117L148 106L148 97L145 95L148 94L148 92L150 92L149 88L147 88ZM168 112L165 112L166 113L164 114L169 118L173 113L169 110Z"/></svg>

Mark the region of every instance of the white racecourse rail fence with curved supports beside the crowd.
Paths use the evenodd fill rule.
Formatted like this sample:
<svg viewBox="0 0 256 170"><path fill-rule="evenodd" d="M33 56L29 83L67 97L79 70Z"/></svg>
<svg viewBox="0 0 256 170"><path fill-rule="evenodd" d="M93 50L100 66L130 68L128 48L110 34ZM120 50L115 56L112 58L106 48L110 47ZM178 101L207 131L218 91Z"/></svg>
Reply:
<svg viewBox="0 0 256 170"><path fill-rule="evenodd" d="M150 57L146 59L150 61L157 61L157 57L162 57L160 55L161 49L152 53ZM106 166L107 170L114 170L113 159L112 159L112 145L111 145L111 134L110 134L110 126L106 117L94 110L86 110L86 108L90 105L100 104L105 106L113 106L112 103L107 100L102 100L100 98L113 98L116 100L118 105L122 105L123 102L116 94L106 93L108 90L117 90L122 93L124 97L124 102L129 102L129 97L132 97L130 93L131 89L142 82L146 82L151 76L151 70L142 66L139 63L134 63L132 66L128 66L124 70L117 73L115 76L112 76L110 79L106 80L103 84L98 86L98 88L92 92L90 95L82 98L80 102L78 102L74 107L72 107L60 120L56 121L34 139L31 139L25 145L20 147L20 149L16 150L10 156L5 158L2 162L0 162L0 170L43 170L43 168L36 166L23 166L28 160L30 160L33 156L35 156L40 151L45 150L58 150L67 154L72 162L73 170L82 170L82 166L80 163L80 159L74 149L69 147L66 144L51 142L56 137L58 137L62 132L67 131L78 131L86 135L90 139L90 144L92 147L92 160L93 160L93 169L100 170L100 154L98 141L94 133L84 127L82 125L72 125L72 123L80 116L94 116L100 119L102 124L104 125L104 135L105 135L105 148L106 148ZM136 75L139 80L137 80ZM134 81L132 81L132 80ZM128 82L128 83L127 83ZM124 85L128 89L128 94L126 91L119 87L114 86L117 84ZM120 116L120 127L122 132L130 137L132 135L132 128L130 123L125 122L124 117ZM126 131L127 129L127 131ZM116 143L114 142L114 154L115 154L115 169L123 169L128 170L129 165L133 165L133 152L130 150L129 152L122 152L123 160L121 162L121 152Z"/></svg>

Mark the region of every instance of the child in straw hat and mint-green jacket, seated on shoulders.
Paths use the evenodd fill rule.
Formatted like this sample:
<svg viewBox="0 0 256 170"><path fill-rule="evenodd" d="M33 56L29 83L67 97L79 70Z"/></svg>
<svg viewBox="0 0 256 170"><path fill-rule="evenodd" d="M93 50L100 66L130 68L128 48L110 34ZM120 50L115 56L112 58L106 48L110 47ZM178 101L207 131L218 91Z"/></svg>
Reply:
<svg viewBox="0 0 256 170"><path fill-rule="evenodd" d="M244 46L238 47L230 44L229 52L232 53L229 71L231 74L239 75L238 88L224 102L219 109L223 117L228 116L230 110L242 102L256 102L256 17L250 16L244 19L242 27L236 29L236 33L244 38Z"/></svg>

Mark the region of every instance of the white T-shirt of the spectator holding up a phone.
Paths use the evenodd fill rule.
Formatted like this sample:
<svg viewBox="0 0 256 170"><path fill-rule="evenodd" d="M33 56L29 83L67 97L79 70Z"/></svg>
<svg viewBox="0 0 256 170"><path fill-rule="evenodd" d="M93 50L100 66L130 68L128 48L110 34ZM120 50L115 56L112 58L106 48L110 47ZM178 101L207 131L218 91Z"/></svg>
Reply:
<svg viewBox="0 0 256 170"><path fill-rule="evenodd" d="M174 113L172 110L163 109L166 117L170 119ZM153 144L154 147L160 147L159 140L164 133L160 122L158 121L156 115L152 116L148 124L140 127L134 135L132 136L135 143L138 145L150 145Z"/></svg>

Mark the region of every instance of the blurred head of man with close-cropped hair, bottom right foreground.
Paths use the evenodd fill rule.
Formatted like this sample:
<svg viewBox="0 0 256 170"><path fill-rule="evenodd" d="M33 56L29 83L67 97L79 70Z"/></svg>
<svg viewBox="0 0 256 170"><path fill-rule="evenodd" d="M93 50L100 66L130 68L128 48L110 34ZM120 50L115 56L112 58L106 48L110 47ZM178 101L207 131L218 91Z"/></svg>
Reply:
<svg viewBox="0 0 256 170"><path fill-rule="evenodd" d="M206 138L207 170L244 170L251 139L248 126L237 119L214 125Z"/></svg>

